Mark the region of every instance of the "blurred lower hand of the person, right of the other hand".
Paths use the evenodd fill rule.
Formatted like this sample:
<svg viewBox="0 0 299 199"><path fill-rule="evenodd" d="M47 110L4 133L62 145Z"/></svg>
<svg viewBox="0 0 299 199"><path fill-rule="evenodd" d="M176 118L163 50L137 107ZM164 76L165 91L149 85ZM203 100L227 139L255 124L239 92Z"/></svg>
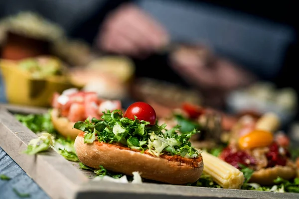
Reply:
<svg viewBox="0 0 299 199"><path fill-rule="evenodd" d="M256 80L253 74L239 66L196 46L174 51L171 66L186 82L198 88L210 105L215 106L221 105L229 92Z"/></svg>

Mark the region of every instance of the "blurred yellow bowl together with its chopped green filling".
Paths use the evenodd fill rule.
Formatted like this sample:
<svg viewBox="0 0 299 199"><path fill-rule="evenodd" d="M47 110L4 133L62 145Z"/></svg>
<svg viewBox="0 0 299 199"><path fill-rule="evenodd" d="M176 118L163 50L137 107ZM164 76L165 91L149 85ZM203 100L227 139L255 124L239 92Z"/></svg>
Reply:
<svg viewBox="0 0 299 199"><path fill-rule="evenodd" d="M49 106L55 92L74 87L64 64L54 57L0 60L0 68L9 103Z"/></svg>

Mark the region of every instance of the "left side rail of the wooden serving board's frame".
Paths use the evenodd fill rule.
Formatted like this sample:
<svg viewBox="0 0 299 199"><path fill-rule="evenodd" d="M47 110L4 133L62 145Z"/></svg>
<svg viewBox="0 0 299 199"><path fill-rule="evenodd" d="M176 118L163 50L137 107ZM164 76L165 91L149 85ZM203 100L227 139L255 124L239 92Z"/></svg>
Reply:
<svg viewBox="0 0 299 199"><path fill-rule="evenodd" d="M37 156L22 154L37 135L18 122L7 110L0 109L0 146L51 197L72 199L88 177L71 162L50 149Z"/></svg>

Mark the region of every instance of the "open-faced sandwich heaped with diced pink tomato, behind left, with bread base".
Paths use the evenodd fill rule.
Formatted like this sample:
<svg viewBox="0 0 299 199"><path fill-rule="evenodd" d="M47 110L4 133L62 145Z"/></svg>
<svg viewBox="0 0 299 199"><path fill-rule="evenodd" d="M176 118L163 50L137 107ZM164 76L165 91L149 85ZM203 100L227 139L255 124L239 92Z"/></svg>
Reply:
<svg viewBox="0 0 299 199"><path fill-rule="evenodd" d="M73 128L75 122L89 118L100 119L103 111L122 109L119 100L99 99L96 93L68 89L56 93L52 101L51 120L63 136L75 139L81 131Z"/></svg>

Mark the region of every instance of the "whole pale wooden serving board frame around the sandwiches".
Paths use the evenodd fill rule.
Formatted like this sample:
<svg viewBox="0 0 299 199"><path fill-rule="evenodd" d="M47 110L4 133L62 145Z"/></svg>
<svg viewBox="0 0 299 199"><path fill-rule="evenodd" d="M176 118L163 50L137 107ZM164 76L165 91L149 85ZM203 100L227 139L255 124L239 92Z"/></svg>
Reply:
<svg viewBox="0 0 299 199"><path fill-rule="evenodd" d="M35 156L22 154L37 135L13 113L42 113L36 109L0 105L0 147L53 199L298 199L299 194L200 188L163 184L121 184L93 181L93 172L79 169L54 150Z"/></svg>

